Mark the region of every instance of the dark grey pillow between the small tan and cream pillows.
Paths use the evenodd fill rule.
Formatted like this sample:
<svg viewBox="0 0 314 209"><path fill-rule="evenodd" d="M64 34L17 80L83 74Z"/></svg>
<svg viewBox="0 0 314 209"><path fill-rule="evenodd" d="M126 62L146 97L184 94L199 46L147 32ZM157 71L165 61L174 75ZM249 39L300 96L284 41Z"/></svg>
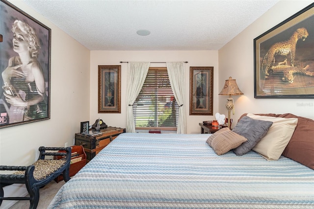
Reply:
<svg viewBox="0 0 314 209"><path fill-rule="evenodd" d="M271 121L255 120L248 116L242 117L232 131L244 136L247 141L233 150L235 155L242 156L252 150L266 135L272 124Z"/></svg>

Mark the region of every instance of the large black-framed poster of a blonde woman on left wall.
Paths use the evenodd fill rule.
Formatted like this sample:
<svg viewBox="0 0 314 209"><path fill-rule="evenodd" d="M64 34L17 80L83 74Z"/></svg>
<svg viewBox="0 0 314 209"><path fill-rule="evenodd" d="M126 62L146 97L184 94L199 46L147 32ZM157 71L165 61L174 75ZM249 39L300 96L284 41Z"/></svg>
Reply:
<svg viewBox="0 0 314 209"><path fill-rule="evenodd" d="M0 128L50 119L51 29L0 0Z"/></svg>

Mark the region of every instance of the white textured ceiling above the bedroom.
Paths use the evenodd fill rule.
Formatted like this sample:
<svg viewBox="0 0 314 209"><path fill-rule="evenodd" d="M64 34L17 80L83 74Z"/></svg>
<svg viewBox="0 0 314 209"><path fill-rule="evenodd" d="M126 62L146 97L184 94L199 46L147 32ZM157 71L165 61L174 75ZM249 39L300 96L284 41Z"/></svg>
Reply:
<svg viewBox="0 0 314 209"><path fill-rule="evenodd" d="M278 0L24 2L89 50L136 51L219 50Z"/></svg>

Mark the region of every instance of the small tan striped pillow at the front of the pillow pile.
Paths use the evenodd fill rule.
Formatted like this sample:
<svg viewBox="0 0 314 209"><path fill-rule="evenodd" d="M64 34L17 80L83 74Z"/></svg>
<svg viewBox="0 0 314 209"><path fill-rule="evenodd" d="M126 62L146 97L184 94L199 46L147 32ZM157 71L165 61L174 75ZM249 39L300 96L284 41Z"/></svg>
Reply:
<svg viewBox="0 0 314 209"><path fill-rule="evenodd" d="M244 136L231 131L229 128L223 128L210 135L206 142L220 156L235 149L246 140Z"/></svg>

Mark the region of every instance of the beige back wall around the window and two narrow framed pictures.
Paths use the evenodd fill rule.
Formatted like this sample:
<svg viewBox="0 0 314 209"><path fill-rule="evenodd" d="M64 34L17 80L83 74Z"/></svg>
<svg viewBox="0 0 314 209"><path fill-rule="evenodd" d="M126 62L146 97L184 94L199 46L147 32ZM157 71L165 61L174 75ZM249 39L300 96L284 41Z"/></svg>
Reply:
<svg viewBox="0 0 314 209"><path fill-rule="evenodd" d="M189 115L189 72L190 66L213 66L213 113L218 111L218 51L91 51L90 56L90 121L98 117L108 126L126 127L126 89L127 89L127 63L133 62L177 62L185 63L185 108L187 133L200 133L199 122L212 120L213 116ZM98 65L121 65L121 114L98 113ZM166 66L165 63L151 63L151 67Z"/></svg>

